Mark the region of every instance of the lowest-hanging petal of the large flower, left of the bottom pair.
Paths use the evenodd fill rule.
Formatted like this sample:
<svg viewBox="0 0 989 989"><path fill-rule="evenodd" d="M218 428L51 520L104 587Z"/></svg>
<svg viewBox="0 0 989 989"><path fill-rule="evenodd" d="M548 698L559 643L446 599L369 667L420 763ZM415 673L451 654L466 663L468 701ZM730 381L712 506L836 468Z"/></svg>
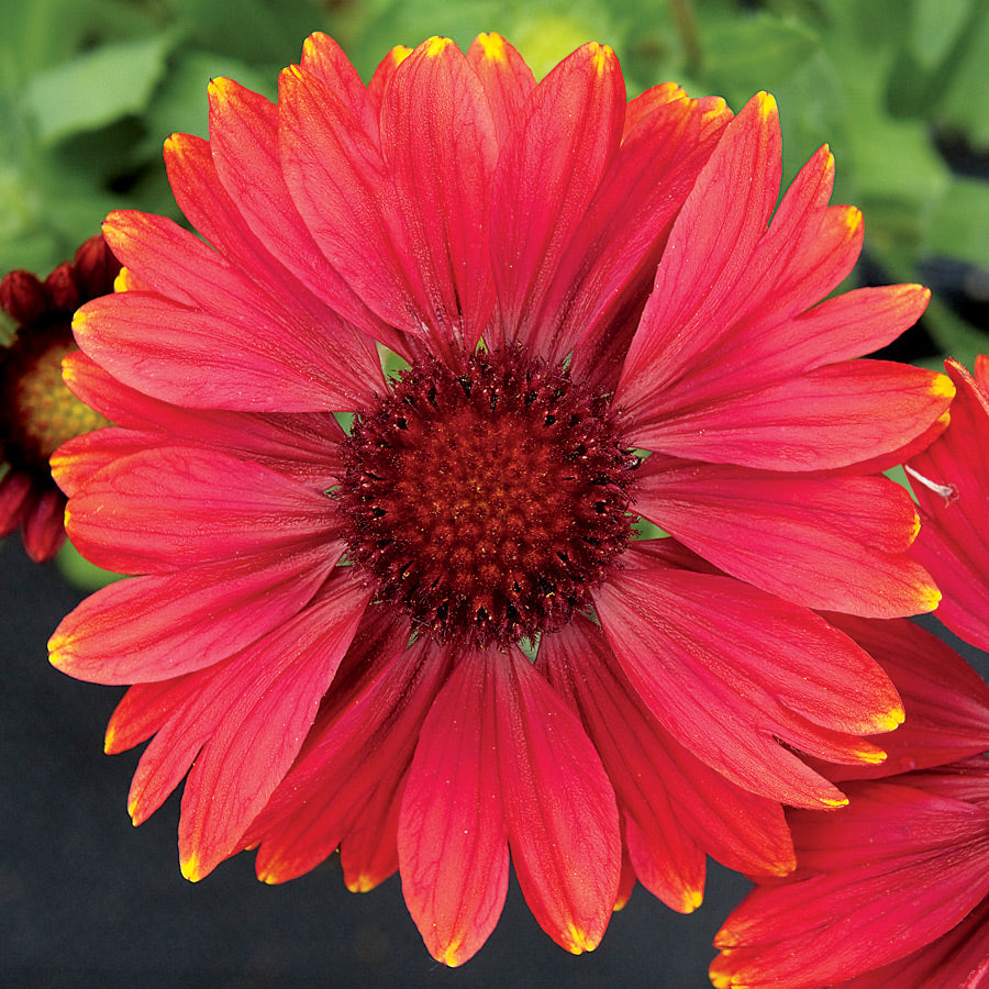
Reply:
<svg viewBox="0 0 989 989"><path fill-rule="evenodd" d="M459 658L423 723L399 819L402 892L430 954L446 965L463 964L487 941L508 890L501 662Z"/></svg>

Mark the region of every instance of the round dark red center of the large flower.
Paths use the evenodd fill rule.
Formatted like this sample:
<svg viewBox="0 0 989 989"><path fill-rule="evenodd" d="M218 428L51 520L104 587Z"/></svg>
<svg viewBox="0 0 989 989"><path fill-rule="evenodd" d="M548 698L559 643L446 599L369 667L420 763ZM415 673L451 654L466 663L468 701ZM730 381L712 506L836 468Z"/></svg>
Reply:
<svg viewBox="0 0 989 989"><path fill-rule="evenodd" d="M413 366L343 456L351 557L443 641L560 627L631 533L638 460L608 400L518 347Z"/></svg>

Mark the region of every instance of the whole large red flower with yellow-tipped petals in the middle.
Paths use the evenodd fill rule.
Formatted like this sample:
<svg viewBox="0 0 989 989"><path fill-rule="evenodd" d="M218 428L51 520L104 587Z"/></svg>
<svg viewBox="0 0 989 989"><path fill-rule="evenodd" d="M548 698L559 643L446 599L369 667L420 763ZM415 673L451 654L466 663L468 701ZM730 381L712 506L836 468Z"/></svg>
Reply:
<svg viewBox="0 0 989 989"><path fill-rule="evenodd" d="M952 396L854 359L924 289L820 302L862 240L827 149L777 203L766 95L629 102L597 44L536 82L493 34L365 86L316 34L277 105L214 80L209 141L165 154L203 240L108 219L123 290L66 374L116 426L57 464L76 545L138 575L51 644L134 685L134 821L188 773L189 878L340 848L352 889L400 871L451 965L510 855L571 952L636 876L691 910L707 854L791 868L781 804L845 800L800 754L881 759L862 736L902 716L811 609L935 605L877 471Z"/></svg>

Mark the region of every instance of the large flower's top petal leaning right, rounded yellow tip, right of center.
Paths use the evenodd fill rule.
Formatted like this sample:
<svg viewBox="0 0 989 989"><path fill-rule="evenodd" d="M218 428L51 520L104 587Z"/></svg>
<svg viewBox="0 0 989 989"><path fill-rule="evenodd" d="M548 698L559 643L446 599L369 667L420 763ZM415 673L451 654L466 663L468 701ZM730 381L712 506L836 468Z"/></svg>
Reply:
<svg viewBox="0 0 989 989"><path fill-rule="evenodd" d="M494 175L491 252L504 342L541 348L543 297L618 151L625 87L614 53L587 44L533 90ZM496 335L498 330L496 329Z"/></svg>

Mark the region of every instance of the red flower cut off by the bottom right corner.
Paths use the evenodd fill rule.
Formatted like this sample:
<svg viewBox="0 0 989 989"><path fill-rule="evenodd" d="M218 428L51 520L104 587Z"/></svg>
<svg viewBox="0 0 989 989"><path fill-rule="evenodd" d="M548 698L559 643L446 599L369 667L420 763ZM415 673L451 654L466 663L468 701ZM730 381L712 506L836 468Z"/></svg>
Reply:
<svg viewBox="0 0 989 989"><path fill-rule="evenodd" d="M758 886L715 938L719 989L989 985L989 688L909 622L843 620L903 698L884 766L849 804L787 820L798 867ZM837 776L846 778L842 770Z"/></svg>

